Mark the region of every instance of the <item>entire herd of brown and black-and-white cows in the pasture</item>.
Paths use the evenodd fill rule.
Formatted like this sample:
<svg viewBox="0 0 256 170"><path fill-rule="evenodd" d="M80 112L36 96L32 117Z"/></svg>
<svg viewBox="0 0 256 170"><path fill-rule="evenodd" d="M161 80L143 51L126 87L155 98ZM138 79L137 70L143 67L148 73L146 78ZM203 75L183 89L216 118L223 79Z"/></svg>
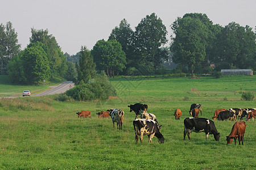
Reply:
<svg viewBox="0 0 256 170"><path fill-rule="evenodd" d="M135 132L135 141L136 144L138 143L138 139L140 136L141 138L141 143L143 139L143 135L148 136L148 142L152 141L153 137L158 138L159 143L164 143L164 137L160 133L160 129L162 125L159 125L158 121L156 120L156 116L152 113L147 113L147 104L141 104L141 103L136 103L136 104L131 104L128 106L130 108L130 112L135 112L135 120L133 121L133 126L134 126L134 132ZM209 120L207 118L199 118L198 114L199 111L202 115L202 105L201 104L192 104L191 108L189 110L189 114L192 117L185 118L184 120L184 140L185 136L188 136L188 139L190 139L190 134L192 131L199 133L199 132L205 132L207 141L208 141L208 136L209 134L213 134L214 139L216 141L219 141L220 139L220 133L218 133L214 122L212 120ZM78 114L78 117L89 117L90 118L90 111L81 111L76 113ZM124 112L121 109L109 109L106 112L99 112L96 113L98 114L99 118L112 118L113 122L113 128L114 128L114 123L117 123L117 128L119 126L119 129L122 129L123 125L123 116ZM181 116L181 110L176 109L174 116L176 120L180 120ZM138 118L138 117L141 118ZM246 108L246 109L241 109L241 108L231 108L229 110L226 109L217 109L214 112L213 120L237 120L237 117L239 117L240 120L243 119L243 117L246 117L246 121L249 121L250 118L253 119L256 117L256 109L255 108ZM245 134L245 129L246 129L246 123L244 121L239 121L236 122L233 125L233 128L231 130L231 133L226 136L226 141L227 144L232 143L233 139L235 141L236 145L236 139L238 138L239 145L240 142L242 141L243 145L243 135Z"/></svg>

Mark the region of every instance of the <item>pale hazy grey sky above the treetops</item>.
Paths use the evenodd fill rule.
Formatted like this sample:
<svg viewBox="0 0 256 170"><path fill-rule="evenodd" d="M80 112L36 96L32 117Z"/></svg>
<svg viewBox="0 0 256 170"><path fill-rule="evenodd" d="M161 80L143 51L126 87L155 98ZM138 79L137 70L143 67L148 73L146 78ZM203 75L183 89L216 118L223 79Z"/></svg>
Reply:
<svg viewBox="0 0 256 170"><path fill-rule="evenodd" d="M108 40L112 29L126 19L131 29L153 12L166 25L187 13L207 14L213 24L249 25L255 31L256 0L1 0L0 24L13 24L22 50L29 44L31 28L48 29L61 50L70 55L89 50L98 40ZM170 43L170 42L168 42Z"/></svg>

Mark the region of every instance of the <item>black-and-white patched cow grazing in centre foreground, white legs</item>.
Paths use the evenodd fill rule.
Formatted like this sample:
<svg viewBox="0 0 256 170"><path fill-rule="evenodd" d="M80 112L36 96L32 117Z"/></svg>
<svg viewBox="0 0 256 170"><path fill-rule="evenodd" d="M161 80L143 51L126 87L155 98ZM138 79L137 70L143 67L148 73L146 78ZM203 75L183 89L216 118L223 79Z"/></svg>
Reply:
<svg viewBox="0 0 256 170"><path fill-rule="evenodd" d="M157 137L159 143L164 143L164 137L160 133L158 123L156 123L154 120L137 118L133 121L133 126L136 144L138 144L139 140L138 135L141 136L141 143L143 135L148 136L148 143L151 143L153 137Z"/></svg>

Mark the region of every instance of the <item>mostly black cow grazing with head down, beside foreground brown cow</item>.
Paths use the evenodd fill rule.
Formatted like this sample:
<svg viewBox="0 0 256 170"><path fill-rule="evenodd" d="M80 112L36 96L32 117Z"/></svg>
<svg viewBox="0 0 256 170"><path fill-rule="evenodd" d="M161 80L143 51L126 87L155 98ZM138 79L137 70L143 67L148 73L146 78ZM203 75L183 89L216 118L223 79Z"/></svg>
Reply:
<svg viewBox="0 0 256 170"><path fill-rule="evenodd" d="M190 134L192 131L196 133L205 132L207 141L209 134L213 134L214 139L218 141L220 139L220 133L218 133L214 122L207 118L198 118L198 117L188 117L184 120L184 139L186 134L188 135L188 139L190 140Z"/></svg>

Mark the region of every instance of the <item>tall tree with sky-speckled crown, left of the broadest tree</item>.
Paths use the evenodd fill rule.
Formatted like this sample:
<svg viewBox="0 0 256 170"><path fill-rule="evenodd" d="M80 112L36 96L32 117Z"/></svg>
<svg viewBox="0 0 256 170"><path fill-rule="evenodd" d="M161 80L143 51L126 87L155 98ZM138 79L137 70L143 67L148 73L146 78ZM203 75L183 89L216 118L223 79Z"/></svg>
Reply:
<svg viewBox="0 0 256 170"><path fill-rule="evenodd" d="M160 59L167 59L166 56L159 56L160 46L167 43L167 30L162 20L155 13L147 15L135 27L135 46L137 52L147 61L154 63L154 69ZM138 58L137 58L138 59Z"/></svg>

